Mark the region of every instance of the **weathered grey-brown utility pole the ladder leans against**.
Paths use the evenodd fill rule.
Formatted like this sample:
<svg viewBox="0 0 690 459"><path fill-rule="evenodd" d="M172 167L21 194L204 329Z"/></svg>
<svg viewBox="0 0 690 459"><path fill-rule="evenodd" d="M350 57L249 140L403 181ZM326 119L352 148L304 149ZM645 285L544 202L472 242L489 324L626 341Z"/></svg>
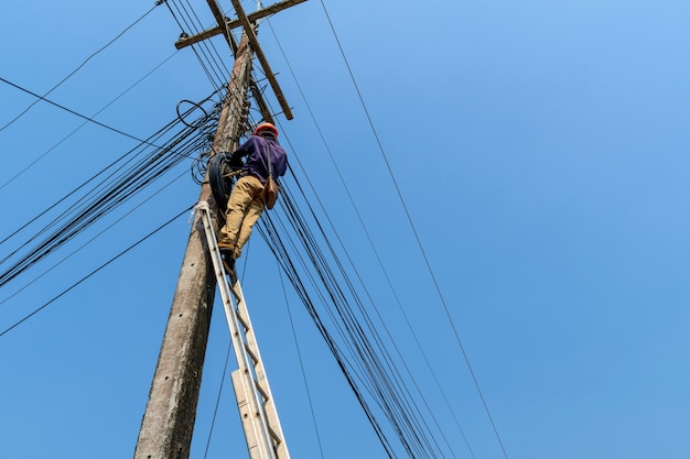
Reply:
<svg viewBox="0 0 690 459"><path fill-rule="evenodd" d="M242 34L214 139L213 152L233 151L244 122L244 105L252 52ZM216 210L208 177L200 201ZM190 457L196 405L216 291L203 222L195 216L163 336L149 402L141 422L134 459Z"/></svg>

